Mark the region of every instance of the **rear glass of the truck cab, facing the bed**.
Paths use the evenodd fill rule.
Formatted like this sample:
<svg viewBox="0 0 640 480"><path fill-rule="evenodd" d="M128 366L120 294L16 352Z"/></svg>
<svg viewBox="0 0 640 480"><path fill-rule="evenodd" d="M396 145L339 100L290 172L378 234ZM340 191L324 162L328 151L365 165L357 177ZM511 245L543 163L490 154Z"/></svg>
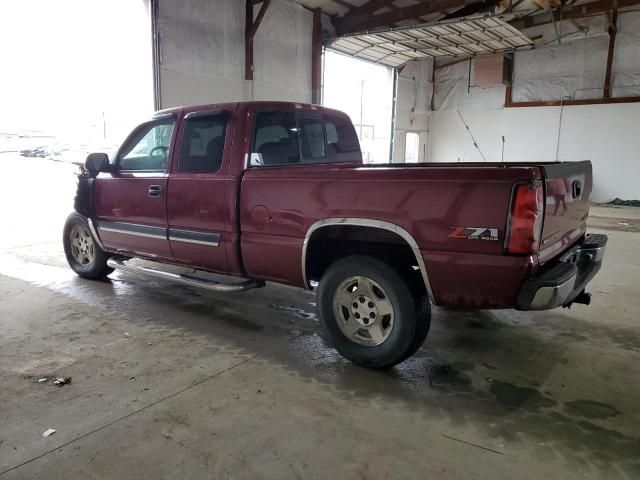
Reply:
<svg viewBox="0 0 640 480"><path fill-rule="evenodd" d="M361 162L355 129L334 112L258 111L251 166Z"/></svg>

